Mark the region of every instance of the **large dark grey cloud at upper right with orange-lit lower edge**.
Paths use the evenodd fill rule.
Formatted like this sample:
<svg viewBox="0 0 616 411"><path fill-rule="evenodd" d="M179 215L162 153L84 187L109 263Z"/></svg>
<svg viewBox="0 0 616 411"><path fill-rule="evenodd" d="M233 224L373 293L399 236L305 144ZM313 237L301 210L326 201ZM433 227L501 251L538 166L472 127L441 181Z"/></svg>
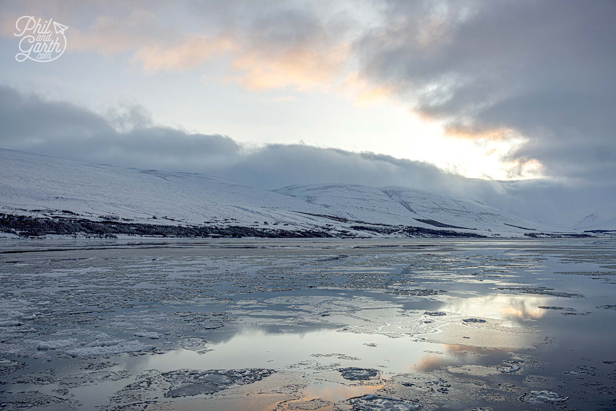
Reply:
<svg viewBox="0 0 616 411"><path fill-rule="evenodd" d="M452 136L525 139L506 160L616 181L616 4L390 1L354 42L362 77Z"/></svg>

